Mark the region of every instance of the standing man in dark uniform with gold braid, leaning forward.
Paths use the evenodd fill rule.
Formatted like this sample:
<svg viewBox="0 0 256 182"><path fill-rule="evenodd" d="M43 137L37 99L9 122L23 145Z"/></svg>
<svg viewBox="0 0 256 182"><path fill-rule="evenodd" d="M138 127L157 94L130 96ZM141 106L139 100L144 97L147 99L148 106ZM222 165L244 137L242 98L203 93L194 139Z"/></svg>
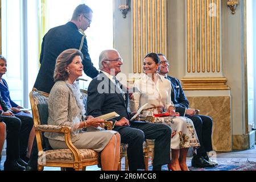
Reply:
<svg viewBox="0 0 256 182"><path fill-rule="evenodd" d="M90 27L93 11L90 7L82 4L76 7L72 19L63 26L52 28L43 38L40 54L40 64L38 77L34 87L43 92L49 93L54 85L53 72L57 56L66 49L79 49L84 55L82 64L84 72L91 78L98 75L98 71L93 67L88 53L88 46L84 31Z"/></svg>

